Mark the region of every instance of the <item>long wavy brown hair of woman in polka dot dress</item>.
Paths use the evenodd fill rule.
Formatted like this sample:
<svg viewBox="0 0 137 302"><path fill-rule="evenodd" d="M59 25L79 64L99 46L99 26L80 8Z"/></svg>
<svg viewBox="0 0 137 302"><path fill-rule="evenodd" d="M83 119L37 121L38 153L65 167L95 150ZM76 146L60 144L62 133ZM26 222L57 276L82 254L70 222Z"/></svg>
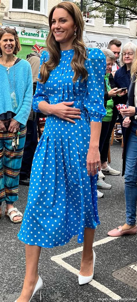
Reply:
<svg viewBox="0 0 137 302"><path fill-rule="evenodd" d="M56 66L58 66L60 61L60 44L56 42L55 37L51 31L52 26L52 16L53 12L56 8L64 8L70 16L73 18L74 24L77 27L76 35L73 37L72 41L72 48L74 49L74 56L71 61L71 67L74 70L74 77L73 82L82 76L82 82L84 79L87 79L88 72L84 66L84 62L87 58L86 54L86 46L83 42L83 28L84 28L84 21L82 14L79 8L71 2L61 2L58 5L55 5L50 13L49 13L49 27L50 31L46 40L47 48L49 52L49 60L42 64L40 69L40 82L45 83L49 77L49 72L53 70Z"/></svg>

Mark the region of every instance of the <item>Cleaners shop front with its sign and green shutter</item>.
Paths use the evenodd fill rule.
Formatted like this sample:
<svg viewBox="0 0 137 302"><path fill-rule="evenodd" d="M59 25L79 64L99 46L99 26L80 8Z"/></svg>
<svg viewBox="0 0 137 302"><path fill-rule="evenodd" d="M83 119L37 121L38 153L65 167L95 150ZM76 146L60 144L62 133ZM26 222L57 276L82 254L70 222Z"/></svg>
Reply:
<svg viewBox="0 0 137 302"><path fill-rule="evenodd" d="M3 24L9 25L9 24ZM14 25L14 24L12 24ZM33 52L32 47L37 44L41 47L46 46L46 38L48 30L30 27L15 26L20 39L21 51L17 56L21 59L26 59L27 54ZM25 32L23 32L25 29Z"/></svg>

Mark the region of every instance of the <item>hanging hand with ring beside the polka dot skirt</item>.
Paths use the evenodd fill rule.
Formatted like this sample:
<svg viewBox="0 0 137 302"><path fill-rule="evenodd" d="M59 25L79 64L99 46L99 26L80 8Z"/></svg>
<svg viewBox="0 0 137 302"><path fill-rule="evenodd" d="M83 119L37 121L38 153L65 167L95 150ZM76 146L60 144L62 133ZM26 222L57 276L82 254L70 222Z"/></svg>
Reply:
<svg viewBox="0 0 137 302"><path fill-rule="evenodd" d="M99 149L96 147L91 147L88 151L87 154L87 172L88 175L94 176L97 174L98 170L100 171L101 169L101 164L100 164L100 153ZM97 170L98 168L98 170Z"/></svg>

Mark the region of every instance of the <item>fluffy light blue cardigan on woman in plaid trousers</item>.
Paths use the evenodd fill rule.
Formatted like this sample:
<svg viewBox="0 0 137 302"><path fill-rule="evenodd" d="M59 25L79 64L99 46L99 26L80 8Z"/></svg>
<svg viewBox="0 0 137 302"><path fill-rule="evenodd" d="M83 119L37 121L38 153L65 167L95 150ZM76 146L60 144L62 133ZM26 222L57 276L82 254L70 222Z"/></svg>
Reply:
<svg viewBox="0 0 137 302"><path fill-rule="evenodd" d="M16 114L14 120L26 125L33 97L33 80L30 63L22 59L10 68L9 75L6 73L5 67L0 65L0 114L12 111ZM15 108L11 99L11 92L14 91L14 73L17 101L17 107Z"/></svg>

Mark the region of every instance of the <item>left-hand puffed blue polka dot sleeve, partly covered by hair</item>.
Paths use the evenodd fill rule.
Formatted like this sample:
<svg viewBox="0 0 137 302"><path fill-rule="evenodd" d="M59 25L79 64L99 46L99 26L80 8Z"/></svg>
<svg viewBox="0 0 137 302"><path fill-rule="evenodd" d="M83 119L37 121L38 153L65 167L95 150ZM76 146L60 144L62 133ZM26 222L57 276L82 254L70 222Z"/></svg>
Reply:
<svg viewBox="0 0 137 302"><path fill-rule="evenodd" d="M42 63L48 61L48 58L49 58L48 52L43 51L41 54L41 57L40 57L40 67L39 67L38 79L40 79L40 68L42 66ZM35 92L35 95L33 96L33 103L32 103L32 107L35 112L40 112L40 110L38 108L38 104L41 101L46 101L49 104L48 96L45 91L45 84L37 82L36 92Z"/></svg>

